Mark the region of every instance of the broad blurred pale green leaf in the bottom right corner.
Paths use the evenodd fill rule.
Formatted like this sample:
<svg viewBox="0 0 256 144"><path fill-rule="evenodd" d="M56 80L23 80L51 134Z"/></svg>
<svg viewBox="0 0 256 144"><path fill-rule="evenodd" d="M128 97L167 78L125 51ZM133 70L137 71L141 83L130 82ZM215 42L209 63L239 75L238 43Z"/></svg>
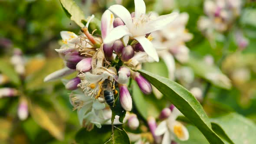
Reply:
<svg viewBox="0 0 256 144"><path fill-rule="evenodd" d="M255 144L256 124L237 113L212 118L213 130L234 144ZM226 138L225 138L226 137Z"/></svg>

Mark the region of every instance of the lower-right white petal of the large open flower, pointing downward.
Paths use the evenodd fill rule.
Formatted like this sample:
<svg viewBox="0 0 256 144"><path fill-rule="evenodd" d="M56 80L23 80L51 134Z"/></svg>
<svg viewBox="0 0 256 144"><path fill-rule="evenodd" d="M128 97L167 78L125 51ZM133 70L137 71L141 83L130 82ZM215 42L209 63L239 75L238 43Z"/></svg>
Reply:
<svg viewBox="0 0 256 144"><path fill-rule="evenodd" d="M154 49L153 44L144 36L136 36L134 37L141 46L143 47L144 51L148 54L148 56L152 57L156 62L159 62L159 57L156 49Z"/></svg>

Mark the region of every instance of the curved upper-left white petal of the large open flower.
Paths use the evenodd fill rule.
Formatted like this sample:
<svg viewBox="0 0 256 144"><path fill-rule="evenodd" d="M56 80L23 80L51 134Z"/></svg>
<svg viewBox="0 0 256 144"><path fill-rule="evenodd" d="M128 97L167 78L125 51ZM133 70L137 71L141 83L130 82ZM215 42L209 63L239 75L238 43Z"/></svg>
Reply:
<svg viewBox="0 0 256 144"><path fill-rule="evenodd" d="M108 8L108 10L112 11L116 16L118 16L127 27L131 27L132 19L131 13L123 6L115 4Z"/></svg>

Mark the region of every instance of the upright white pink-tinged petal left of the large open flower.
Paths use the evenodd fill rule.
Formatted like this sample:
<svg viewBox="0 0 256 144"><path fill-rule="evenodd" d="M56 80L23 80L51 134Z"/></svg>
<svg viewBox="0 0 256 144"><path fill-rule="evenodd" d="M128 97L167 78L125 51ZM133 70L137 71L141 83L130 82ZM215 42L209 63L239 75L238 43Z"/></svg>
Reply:
<svg viewBox="0 0 256 144"><path fill-rule="evenodd" d="M111 11L106 10L102 14L102 39L108 35L108 33L113 29L113 22L115 20L115 16ZM104 41L104 40L103 40Z"/></svg>

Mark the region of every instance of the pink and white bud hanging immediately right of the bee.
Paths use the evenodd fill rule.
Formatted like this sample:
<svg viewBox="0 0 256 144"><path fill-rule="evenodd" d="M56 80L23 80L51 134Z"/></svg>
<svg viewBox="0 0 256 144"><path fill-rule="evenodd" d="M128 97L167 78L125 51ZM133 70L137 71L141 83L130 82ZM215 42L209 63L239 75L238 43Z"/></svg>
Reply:
<svg viewBox="0 0 256 144"><path fill-rule="evenodd" d="M128 91L128 88L126 85L118 85L119 87L119 95L120 95L120 103L122 108L125 109L125 111L131 111L132 108L132 100L130 92Z"/></svg>

